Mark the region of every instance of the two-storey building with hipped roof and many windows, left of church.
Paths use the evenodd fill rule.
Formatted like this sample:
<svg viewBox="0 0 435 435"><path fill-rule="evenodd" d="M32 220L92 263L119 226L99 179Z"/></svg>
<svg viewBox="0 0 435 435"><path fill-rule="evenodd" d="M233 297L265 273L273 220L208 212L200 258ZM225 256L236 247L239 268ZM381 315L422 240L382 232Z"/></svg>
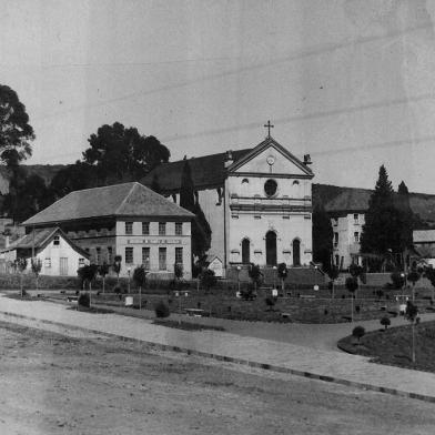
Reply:
<svg viewBox="0 0 435 435"><path fill-rule="evenodd" d="M191 276L193 214L144 185L131 182L69 193L28 219L27 233L53 226L89 253L95 264L121 255L121 274L143 264L172 275L174 264Z"/></svg>

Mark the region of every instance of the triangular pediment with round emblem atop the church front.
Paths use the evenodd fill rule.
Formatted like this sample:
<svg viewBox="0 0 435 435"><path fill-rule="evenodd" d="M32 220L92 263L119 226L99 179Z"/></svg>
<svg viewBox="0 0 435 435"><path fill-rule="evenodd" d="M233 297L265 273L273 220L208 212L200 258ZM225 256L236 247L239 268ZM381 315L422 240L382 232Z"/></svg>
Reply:
<svg viewBox="0 0 435 435"><path fill-rule="evenodd" d="M234 162L227 170L230 173L274 173L304 178L314 176L307 165L273 138L266 138L265 141Z"/></svg>

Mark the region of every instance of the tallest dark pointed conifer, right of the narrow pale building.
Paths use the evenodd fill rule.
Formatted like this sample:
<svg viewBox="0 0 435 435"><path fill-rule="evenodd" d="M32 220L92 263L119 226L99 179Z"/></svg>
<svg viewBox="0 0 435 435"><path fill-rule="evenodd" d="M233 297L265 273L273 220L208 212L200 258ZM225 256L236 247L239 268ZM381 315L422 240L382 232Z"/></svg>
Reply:
<svg viewBox="0 0 435 435"><path fill-rule="evenodd" d="M361 236L361 251L364 253L386 254L403 252L402 213L394 204L394 191L384 165L380 169L378 180L368 201L365 224Z"/></svg>

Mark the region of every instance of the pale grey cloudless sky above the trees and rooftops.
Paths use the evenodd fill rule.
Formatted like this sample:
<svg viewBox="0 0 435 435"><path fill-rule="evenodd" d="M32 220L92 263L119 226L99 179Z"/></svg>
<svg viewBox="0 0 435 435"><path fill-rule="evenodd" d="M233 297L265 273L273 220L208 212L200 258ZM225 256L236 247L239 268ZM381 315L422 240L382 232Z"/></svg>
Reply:
<svg viewBox="0 0 435 435"><path fill-rule="evenodd" d="M0 83L28 163L73 163L118 121L171 160L266 134L315 182L435 193L435 0L0 0Z"/></svg>

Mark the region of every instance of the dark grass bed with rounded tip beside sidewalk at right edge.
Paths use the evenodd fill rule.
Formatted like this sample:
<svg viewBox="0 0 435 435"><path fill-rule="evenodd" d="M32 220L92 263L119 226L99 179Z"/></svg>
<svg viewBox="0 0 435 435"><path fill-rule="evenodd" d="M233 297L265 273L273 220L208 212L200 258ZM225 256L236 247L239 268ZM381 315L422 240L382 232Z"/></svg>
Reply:
<svg viewBox="0 0 435 435"><path fill-rule="evenodd" d="M373 356L381 364L435 373L435 322L415 326L416 362L412 362L412 327L409 325L370 332L361 338L353 336L338 342L343 351Z"/></svg>

